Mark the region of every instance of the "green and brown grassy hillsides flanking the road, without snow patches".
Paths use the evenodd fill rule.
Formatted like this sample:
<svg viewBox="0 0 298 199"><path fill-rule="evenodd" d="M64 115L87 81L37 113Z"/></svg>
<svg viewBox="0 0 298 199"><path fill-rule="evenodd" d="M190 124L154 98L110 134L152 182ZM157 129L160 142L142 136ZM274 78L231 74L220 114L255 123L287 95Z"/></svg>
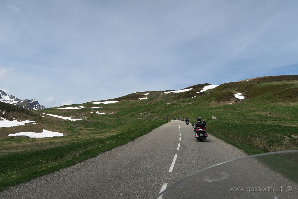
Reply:
<svg viewBox="0 0 298 199"><path fill-rule="evenodd" d="M197 117L202 117L210 134L248 154L298 149L298 75L230 82L198 93L207 85L210 84L187 87L192 90L182 93L136 92L107 100L119 101L114 104L87 102L63 106L84 106L80 109L56 107L28 111L0 103L0 110L7 112L7 119L30 119L38 123L0 128L0 190L134 140L167 122L161 118L180 116L195 122ZM237 99L235 93L242 93L245 98ZM139 99L145 97L148 99ZM83 120L68 121L44 113ZM212 120L212 116L218 120ZM157 117L159 120L155 120ZM67 136L7 136L16 132L41 132L42 129Z"/></svg>

